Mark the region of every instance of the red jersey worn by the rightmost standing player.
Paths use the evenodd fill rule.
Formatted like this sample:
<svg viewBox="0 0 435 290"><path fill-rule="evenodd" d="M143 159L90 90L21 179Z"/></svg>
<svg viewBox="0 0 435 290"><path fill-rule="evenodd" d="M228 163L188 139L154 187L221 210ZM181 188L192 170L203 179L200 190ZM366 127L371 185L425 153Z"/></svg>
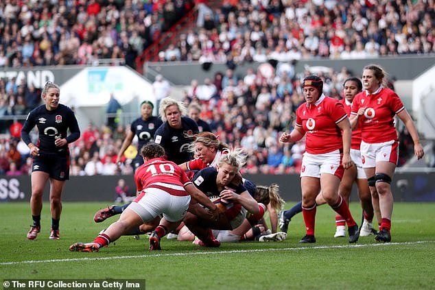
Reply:
<svg viewBox="0 0 435 290"><path fill-rule="evenodd" d="M364 116L360 117L362 141L366 143L397 141L395 114L405 110L399 96L389 88L381 87L372 95L368 95L364 90L353 99L351 114L356 115L363 107L366 107L366 110Z"/></svg>

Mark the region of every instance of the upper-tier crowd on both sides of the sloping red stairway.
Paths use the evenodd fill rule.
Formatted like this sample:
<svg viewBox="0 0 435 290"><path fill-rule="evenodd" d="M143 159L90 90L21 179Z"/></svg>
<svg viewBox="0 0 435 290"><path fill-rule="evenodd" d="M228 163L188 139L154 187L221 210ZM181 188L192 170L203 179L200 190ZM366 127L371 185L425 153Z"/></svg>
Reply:
<svg viewBox="0 0 435 290"><path fill-rule="evenodd" d="M134 68L135 58L195 5L198 29L180 34L160 60L355 59L435 49L432 0L225 0L214 11L192 0L7 0L0 3L0 67L113 58Z"/></svg>

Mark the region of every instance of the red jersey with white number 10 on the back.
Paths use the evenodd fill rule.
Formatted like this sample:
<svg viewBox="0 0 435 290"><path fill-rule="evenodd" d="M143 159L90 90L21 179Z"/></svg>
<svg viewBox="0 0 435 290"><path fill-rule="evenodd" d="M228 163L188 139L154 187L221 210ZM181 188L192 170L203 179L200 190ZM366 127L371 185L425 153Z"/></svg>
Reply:
<svg viewBox="0 0 435 290"><path fill-rule="evenodd" d="M164 158L153 158L141 165L134 173L137 191L141 194L137 197L140 200L147 188L156 188L166 191L171 195L189 195L184 186L191 183L185 171L172 161Z"/></svg>

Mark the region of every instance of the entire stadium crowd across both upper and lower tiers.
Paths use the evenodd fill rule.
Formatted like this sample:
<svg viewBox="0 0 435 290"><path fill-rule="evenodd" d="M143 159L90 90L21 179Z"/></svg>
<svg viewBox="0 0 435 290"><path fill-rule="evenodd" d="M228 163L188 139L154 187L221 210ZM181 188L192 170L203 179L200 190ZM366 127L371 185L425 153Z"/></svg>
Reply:
<svg viewBox="0 0 435 290"><path fill-rule="evenodd" d="M96 64L100 58L124 58L134 67L134 58L193 5L187 0L8 0L0 3L0 67ZM434 1L224 1L217 10L206 10L200 27L181 34L161 60L226 62L228 69L213 80L192 80L183 101L200 105L200 119L222 142L248 150L244 172L297 172L303 141L282 145L278 136L292 128L304 101L301 80L312 72L296 74L292 60L433 53L434 19ZM277 62L234 73L238 62L268 60ZM343 68L317 74L325 94L340 99L342 82L351 73ZM27 114L38 104L40 92L25 80L0 80L0 117ZM0 141L2 174L29 173L20 131L20 123L1 123L0 133L12 137ZM128 125L114 131L90 125L71 145L71 175L119 173L116 154L126 132ZM409 140L406 130L401 134ZM401 145L408 154L412 144ZM126 160L121 173L132 173Z"/></svg>

